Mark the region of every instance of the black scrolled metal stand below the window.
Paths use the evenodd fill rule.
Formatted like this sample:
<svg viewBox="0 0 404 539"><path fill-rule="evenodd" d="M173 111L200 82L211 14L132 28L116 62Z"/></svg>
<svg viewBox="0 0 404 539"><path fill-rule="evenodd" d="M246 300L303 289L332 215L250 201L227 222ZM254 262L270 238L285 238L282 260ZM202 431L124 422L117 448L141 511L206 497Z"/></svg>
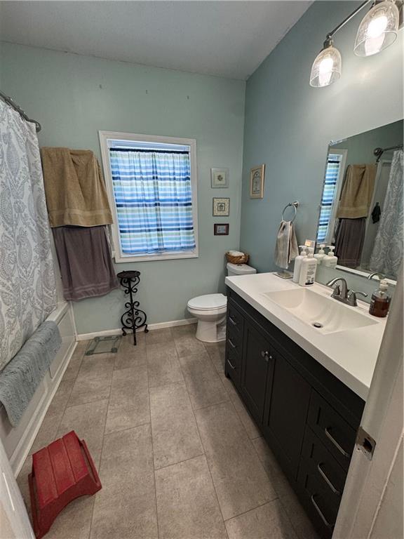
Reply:
<svg viewBox="0 0 404 539"><path fill-rule="evenodd" d="M144 326L144 333L147 333L147 314L139 309L139 302L133 301L133 295L137 293L137 285L140 283L140 272L129 271L120 272L116 275L121 286L125 288L125 293L129 294L129 301L125 303L126 311L121 316L122 335L125 336L126 329L133 331L133 345L136 346L136 330Z"/></svg>

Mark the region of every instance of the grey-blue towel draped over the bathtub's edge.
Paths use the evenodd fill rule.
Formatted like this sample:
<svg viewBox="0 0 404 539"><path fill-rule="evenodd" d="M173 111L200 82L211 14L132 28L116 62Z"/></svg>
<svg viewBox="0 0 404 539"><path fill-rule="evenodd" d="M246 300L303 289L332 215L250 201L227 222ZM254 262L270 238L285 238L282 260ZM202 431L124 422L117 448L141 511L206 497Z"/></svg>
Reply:
<svg viewBox="0 0 404 539"><path fill-rule="evenodd" d="M58 326L46 321L0 373L0 402L15 427L62 344Z"/></svg>

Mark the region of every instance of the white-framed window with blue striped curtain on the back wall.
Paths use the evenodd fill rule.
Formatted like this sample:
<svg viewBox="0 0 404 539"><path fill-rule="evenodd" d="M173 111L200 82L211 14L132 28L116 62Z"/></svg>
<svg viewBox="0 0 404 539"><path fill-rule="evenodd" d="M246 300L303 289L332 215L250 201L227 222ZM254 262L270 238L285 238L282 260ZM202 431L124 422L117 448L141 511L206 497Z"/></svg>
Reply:
<svg viewBox="0 0 404 539"><path fill-rule="evenodd" d="M196 141L100 131L116 262L198 256Z"/></svg>

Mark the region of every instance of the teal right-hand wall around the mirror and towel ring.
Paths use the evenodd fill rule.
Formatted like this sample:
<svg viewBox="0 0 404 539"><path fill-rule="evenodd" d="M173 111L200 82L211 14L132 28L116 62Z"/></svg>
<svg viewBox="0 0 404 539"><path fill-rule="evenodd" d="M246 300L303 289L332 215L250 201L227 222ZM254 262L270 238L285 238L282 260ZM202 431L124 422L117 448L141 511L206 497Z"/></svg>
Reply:
<svg viewBox="0 0 404 539"><path fill-rule="evenodd" d="M382 53L358 58L353 48L363 14L335 35L342 54L341 79L326 88L309 86L311 65L325 34L357 5L316 1L248 79L240 246L260 272L276 270L276 231L288 202L300 202L298 241L315 239L330 140L403 119L403 30ZM253 200L249 171L261 163L267 164L264 199ZM326 273L319 272L320 281L328 278ZM345 272L341 276L348 284L356 281ZM375 283L360 281L362 290L375 288Z"/></svg>

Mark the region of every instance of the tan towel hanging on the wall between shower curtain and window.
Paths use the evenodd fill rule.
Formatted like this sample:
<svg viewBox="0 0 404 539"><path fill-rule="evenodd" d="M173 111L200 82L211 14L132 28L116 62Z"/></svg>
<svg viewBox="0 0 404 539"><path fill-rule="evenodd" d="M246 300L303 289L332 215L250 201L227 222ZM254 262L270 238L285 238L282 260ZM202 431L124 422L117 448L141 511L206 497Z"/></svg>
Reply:
<svg viewBox="0 0 404 539"><path fill-rule="evenodd" d="M93 152L44 147L41 158L51 227L112 223L104 178Z"/></svg>

